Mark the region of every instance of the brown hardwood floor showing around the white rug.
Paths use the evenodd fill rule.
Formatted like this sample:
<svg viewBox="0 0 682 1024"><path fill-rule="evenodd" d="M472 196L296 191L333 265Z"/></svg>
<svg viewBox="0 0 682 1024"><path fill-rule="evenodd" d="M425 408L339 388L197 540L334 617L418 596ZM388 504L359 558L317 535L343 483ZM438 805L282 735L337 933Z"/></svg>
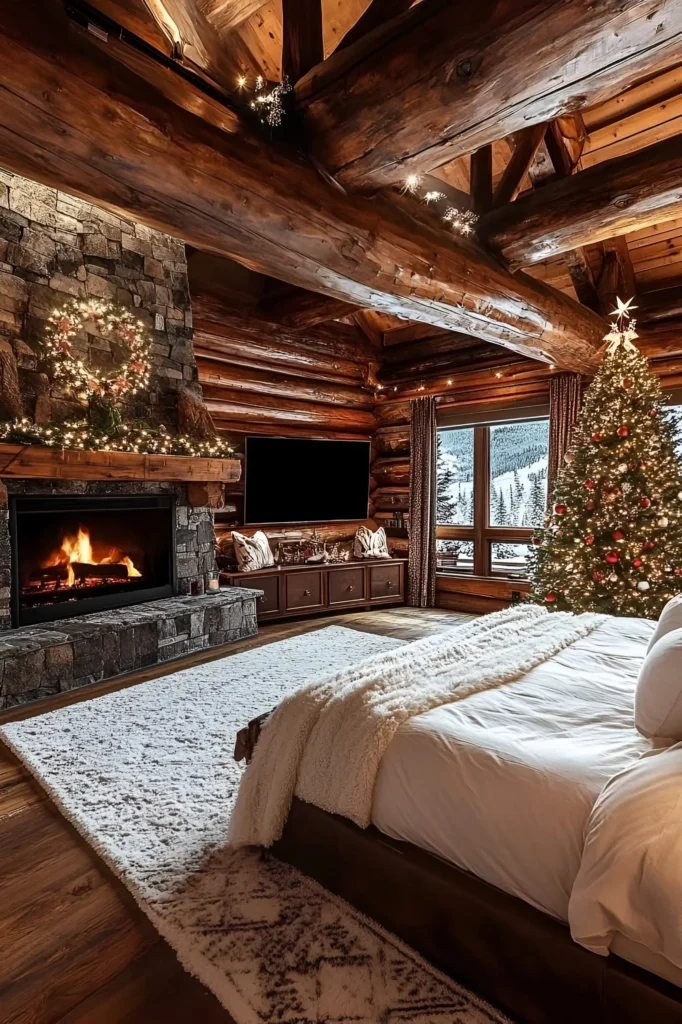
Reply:
<svg viewBox="0 0 682 1024"><path fill-rule="evenodd" d="M416 640L463 617L398 607L271 624L251 640L12 709L0 724L332 624ZM0 964L0 1024L231 1022L2 743Z"/></svg>

